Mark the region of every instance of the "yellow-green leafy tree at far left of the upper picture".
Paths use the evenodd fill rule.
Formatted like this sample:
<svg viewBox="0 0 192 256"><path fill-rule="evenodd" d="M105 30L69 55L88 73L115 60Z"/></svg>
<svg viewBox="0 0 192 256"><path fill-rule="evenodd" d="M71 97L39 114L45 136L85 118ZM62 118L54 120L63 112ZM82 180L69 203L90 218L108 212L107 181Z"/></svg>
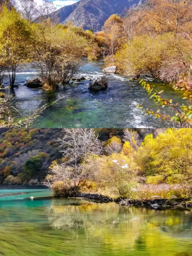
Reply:
<svg viewBox="0 0 192 256"><path fill-rule="evenodd" d="M8 72L10 88L13 89L16 69L27 60L30 26L14 8L9 11L5 6L0 14L0 50Z"/></svg>

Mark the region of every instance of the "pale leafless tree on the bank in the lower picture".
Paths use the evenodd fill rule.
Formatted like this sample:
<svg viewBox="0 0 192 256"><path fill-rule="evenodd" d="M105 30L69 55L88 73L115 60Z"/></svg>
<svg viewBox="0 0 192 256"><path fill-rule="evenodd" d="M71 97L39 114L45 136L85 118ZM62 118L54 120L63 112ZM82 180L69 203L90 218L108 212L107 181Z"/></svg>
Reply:
<svg viewBox="0 0 192 256"><path fill-rule="evenodd" d="M98 134L94 129L88 128L64 128L64 137L58 139L60 152L66 161L62 164L55 164L50 168L52 182L62 181L64 187L73 181L73 188L76 191L83 179L92 176L91 169L85 168L89 155L100 154L102 143L98 140Z"/></svg>

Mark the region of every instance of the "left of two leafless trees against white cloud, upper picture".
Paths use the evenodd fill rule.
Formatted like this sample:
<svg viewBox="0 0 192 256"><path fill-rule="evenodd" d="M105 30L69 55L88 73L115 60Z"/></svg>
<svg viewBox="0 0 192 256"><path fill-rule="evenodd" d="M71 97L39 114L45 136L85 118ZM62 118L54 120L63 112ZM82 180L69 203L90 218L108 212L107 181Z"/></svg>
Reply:
<svg viewBox="0 0 192 256"><path fill-rule="evenodd" d="M19 0L18 2L22 18L32 22L38 17L37 3L34 0Z"/></svg>

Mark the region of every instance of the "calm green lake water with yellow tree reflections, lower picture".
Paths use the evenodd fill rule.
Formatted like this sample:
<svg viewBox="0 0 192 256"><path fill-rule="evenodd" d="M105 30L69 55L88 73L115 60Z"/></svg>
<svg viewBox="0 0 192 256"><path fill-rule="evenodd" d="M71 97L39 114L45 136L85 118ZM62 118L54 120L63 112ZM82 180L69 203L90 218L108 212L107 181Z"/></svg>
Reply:
<svg viewBox="0 0 192 256"><path fill-rule="evenodd" d="M32 194L33 188L17 188ZM34 193L38 189L45 188L34 188ZM0 194L16 193L16 188L4 192L0 187ZM101 204L80 198L47 196L32 201L29 194L22 200L17 195L14 200L0 198L0 255L192 255L192 212Z"/></svg>

